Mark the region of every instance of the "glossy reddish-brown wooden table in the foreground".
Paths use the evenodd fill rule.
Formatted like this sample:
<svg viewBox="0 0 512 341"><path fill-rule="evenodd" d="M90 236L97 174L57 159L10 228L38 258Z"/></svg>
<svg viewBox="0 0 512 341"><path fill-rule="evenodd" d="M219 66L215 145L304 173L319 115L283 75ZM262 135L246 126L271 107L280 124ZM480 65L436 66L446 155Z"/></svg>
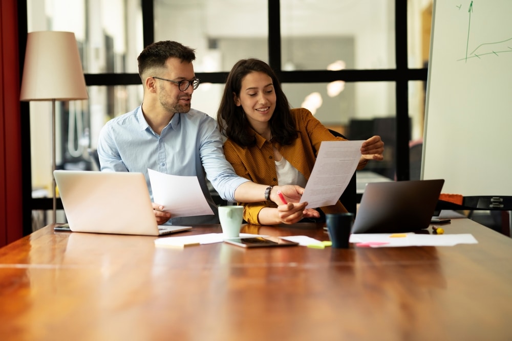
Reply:
<svg viewBox="0 0 512 341"><path fill-rule="evenodd" d="M173 249L46 226L0 248L0 339L512 339L512 239L468 219L444 227L479 243ZM242 232L328 239L314 224Z"/></svg>

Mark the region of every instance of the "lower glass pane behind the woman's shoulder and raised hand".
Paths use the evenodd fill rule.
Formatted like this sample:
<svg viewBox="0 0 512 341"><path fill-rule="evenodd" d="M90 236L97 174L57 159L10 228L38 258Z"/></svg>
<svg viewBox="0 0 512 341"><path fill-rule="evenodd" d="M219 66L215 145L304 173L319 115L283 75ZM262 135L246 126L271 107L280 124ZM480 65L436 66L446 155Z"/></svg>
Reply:
<svg viewBox="0 0 512 341"><path fill-rule="evenodd" d="M394 82L285 83L283 90L292 107L308 108L325 126L349 140L380 135L386 145L385 161L371 162L366 170L395 178Z"/></svg>

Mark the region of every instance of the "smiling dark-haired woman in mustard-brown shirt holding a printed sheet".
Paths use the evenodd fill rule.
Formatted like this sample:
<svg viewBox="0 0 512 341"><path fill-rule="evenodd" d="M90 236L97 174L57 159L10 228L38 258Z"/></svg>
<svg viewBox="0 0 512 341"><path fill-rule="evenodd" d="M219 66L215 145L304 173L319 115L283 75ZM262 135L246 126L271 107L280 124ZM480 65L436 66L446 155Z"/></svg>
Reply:
<svg viewBox="0 0 512 341"><path fill-rule="evenodd" d="M269 186L305 187L322 141L335 141L329 130L305 108L290 109L279 80L268 64L243 59L231 69L217 113L219 128L227 137L224 153L238 175ZM384 143L379 136L361 147L357 169L368 160L382 160ZM283 221L292 204L270 201L244 203L244 219L253 224L294 223L319 217L316 210ZM341 202L321 208L324 213L347 212Z"/></svg>

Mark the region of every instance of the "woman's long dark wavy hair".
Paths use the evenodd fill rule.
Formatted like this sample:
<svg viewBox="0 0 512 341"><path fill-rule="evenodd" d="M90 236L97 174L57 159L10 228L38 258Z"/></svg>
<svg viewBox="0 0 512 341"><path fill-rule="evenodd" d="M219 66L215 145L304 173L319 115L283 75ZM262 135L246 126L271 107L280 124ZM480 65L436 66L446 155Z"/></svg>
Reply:
<svg viewBox="0 0 512 341"><path fill-rule="evenodd" d="M252 147L255 145L254 135L249 133L250 125L245 117L244 109L242 106L235 105L233 98L233 94L240 97L242 80L251 72L262 72L272 79L276 98L275 110L269 121L272 140L281 145L291 144L297 138L297 131L290 113L290 103L271 67L255 58L239 60L227 76L221 104L217 111L217 121L221 133L240 146Z"/></svg>

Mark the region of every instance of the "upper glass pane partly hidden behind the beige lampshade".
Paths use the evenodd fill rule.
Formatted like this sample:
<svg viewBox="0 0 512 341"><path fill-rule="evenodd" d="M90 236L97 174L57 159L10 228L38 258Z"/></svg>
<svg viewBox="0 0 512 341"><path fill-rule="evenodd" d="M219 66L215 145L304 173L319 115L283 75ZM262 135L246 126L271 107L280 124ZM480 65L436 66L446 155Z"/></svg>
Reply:
<svg viewBox="0 0 512 341"><path fill-rule="evenodd" d="M83 71L137 73L143 48L139 0L27 0L28 32L75 33Z"/></svg>

